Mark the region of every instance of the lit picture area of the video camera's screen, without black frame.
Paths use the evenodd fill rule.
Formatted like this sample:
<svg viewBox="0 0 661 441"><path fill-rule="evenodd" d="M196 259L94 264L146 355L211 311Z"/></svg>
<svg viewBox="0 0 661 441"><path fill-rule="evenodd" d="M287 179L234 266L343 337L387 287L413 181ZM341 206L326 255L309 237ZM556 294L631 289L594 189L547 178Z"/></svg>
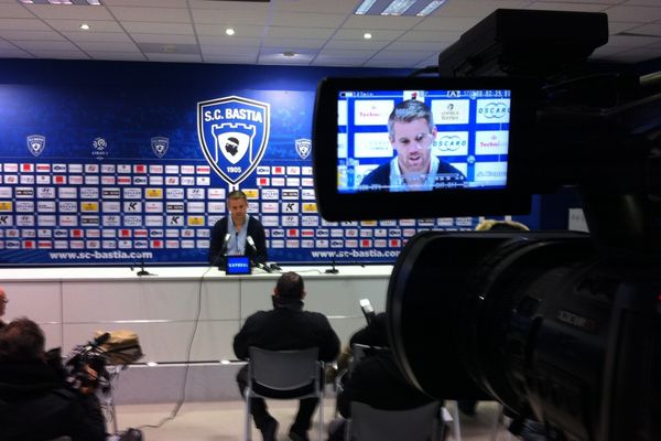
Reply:
<svg viewBox="0 0 661 441"><path fill-rule="evenodd" d="M339 90L337 190L505 189L511 90Z"/></svg>

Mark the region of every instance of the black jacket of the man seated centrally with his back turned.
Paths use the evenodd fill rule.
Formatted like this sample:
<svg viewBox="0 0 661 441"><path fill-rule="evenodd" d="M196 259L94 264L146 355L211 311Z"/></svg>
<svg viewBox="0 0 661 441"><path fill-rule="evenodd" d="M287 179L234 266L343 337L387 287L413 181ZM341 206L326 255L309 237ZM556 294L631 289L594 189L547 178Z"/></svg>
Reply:
<svg viewBox="0 0 661 441"><path fill-rule="evenodd" d="M293 300L246 320L234 340L237 357L248 358L249 346L271 351L318 347L319 359L330 362L339 353L339 338L324 314L303 311L303 302Z"/></svg>

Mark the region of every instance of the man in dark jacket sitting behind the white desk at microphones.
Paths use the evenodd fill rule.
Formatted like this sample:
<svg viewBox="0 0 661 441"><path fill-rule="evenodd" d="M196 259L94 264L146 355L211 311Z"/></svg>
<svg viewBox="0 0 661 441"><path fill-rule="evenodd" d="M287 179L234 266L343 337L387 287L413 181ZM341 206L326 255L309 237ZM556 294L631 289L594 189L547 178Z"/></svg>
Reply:
<svg viewBox="0 0 661 441"><path fill-rule="evenodd" d="M256 263L264 263L267 236L263 225L248 214L248 197L240 190L227 196L229 216L218 220L212 228L208 261L212 266L224 266L225 256L248 256Z"/></svg>

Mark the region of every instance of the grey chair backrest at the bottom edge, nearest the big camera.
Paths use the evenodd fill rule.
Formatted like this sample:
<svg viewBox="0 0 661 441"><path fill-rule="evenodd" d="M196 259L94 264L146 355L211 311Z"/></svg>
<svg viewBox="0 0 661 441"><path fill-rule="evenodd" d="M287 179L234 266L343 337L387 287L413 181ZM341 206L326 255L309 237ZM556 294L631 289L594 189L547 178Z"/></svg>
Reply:
<svg viewBox="0 0 661 441"><path fill-rule="evenodd" d="M351 401L348 435L356 441L429 441L440 438L441 402L407 410L375 409Z"/></svg>

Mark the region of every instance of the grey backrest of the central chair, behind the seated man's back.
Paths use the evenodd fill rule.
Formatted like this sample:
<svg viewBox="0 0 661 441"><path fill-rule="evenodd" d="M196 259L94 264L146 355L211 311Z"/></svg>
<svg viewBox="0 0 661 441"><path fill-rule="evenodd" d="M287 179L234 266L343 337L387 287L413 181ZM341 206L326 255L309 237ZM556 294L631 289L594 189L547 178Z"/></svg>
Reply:
<svg viewBox="0 0 661 441"><path fill-rule="evenodd" d="M249 377L257 385L273 390L296 390L318 384L318 347L300 351L268 351L250 346ZM254 385L257 384L257 385ZM277 398L277 397L274 397Z"/></svg>

